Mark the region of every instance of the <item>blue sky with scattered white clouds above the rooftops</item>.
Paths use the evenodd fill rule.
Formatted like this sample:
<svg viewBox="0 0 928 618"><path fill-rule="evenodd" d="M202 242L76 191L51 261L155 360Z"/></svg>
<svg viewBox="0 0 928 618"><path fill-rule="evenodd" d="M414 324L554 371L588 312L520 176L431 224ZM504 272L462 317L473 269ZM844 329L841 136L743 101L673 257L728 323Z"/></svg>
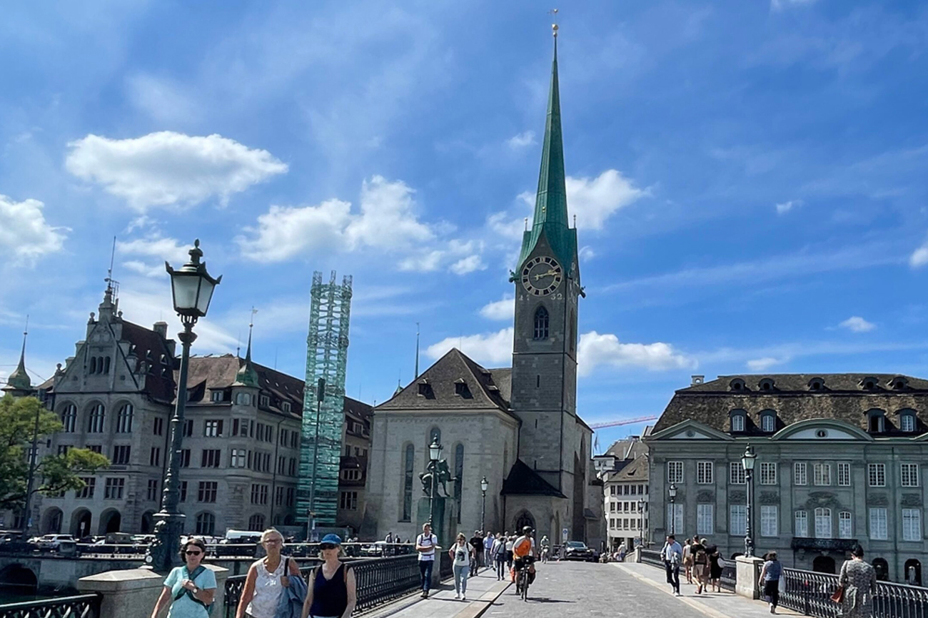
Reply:
<svg viewBox="0 0 928 618"><path fill-rule="evenodd" d="M452 345L509 364L508 270L550 71L537 2L20 3L0 21L0 378L73 354L118 238L224 275L199 354L303 375L314 270L354 276L347 391ZM691 374L926 376L928 6L561 6L579 409L659 414ZM603 431L600 444L638 427Z"/></svg>

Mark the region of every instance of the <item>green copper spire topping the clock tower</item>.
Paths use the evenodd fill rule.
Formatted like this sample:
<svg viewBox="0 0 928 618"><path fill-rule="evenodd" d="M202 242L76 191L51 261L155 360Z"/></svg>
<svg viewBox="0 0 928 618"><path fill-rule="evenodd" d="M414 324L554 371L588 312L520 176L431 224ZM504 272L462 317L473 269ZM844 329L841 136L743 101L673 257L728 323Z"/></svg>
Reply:
<svg viewBox="0 0 928 618"><path fill-rule="evenodd" d="M568 225L567 187L564 174L564 145L561 138L561 93L558 87L558 39L554 38L554 60L551 62L551 87L548 93L548 117L545 121L545 143L541 150L541 170L535 196L535 216L532 227L522 237L522 251L517 269L535 250L544 232L554 257L570 269L576 254L576 233Z"/></svg>

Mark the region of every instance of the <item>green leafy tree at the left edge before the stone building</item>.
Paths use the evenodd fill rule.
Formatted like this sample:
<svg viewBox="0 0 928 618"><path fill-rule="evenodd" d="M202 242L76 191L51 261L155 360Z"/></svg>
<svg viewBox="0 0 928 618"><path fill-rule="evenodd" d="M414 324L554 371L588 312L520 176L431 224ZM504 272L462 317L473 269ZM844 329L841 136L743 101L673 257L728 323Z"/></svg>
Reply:
<svg viewBox="0 0 928 618"><path fill-rule="evenodd" d="M29 482L29 449L38 415L38 443L64 429L61 421L35 397L0 399L0 509L22 509ZM45 496L82 489L82 475L110 466L110 460L86 448L64 455L46 455L36 462L32 492Z"/></svg>

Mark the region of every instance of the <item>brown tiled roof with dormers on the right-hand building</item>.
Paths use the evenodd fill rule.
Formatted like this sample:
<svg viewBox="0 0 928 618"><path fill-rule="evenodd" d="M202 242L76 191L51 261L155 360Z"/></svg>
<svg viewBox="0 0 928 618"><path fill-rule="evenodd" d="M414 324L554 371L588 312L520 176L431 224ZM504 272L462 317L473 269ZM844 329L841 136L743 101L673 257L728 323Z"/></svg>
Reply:
<svg viewBox="0 0 928 618"><path fill-rule="evenodd" d="M897 378L906 380L894 388ZM761 390L762 380L772 380L770 390ZM820 390L810 390L814 379L822 382ZM861 386L873 379L873 388ZM732 380L743 381L743 390L733 391ZM761 434L760 413L771 409L777 413L777 430L800 420L834 418L863 430L867 426L867 411L873 408L886 413L887 433L895 431L896 412L914 409L919 417L916 433L925 431L928 419L928 380L896 374L774 374L719 376L716 380L680 389L664 409L654 426L654 432L693 419L718 431L730 429L729 413L742 409L747 413L746 434ZM911 435L911 434L908 434Z"/></svg>

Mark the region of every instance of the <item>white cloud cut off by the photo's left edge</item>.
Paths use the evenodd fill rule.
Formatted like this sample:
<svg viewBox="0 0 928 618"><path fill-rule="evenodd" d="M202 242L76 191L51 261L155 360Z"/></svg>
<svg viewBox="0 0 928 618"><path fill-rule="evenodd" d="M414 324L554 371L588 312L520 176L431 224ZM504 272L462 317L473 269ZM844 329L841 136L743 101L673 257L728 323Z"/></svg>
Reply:
<svg viewBox="0 0 928 618"><path fill-rule="evenodd" d="M64 247L67 227L53 227L45 222L39 200L14 201L0 195L0 254L15 263L34 264L48 253Z"/></svg>

